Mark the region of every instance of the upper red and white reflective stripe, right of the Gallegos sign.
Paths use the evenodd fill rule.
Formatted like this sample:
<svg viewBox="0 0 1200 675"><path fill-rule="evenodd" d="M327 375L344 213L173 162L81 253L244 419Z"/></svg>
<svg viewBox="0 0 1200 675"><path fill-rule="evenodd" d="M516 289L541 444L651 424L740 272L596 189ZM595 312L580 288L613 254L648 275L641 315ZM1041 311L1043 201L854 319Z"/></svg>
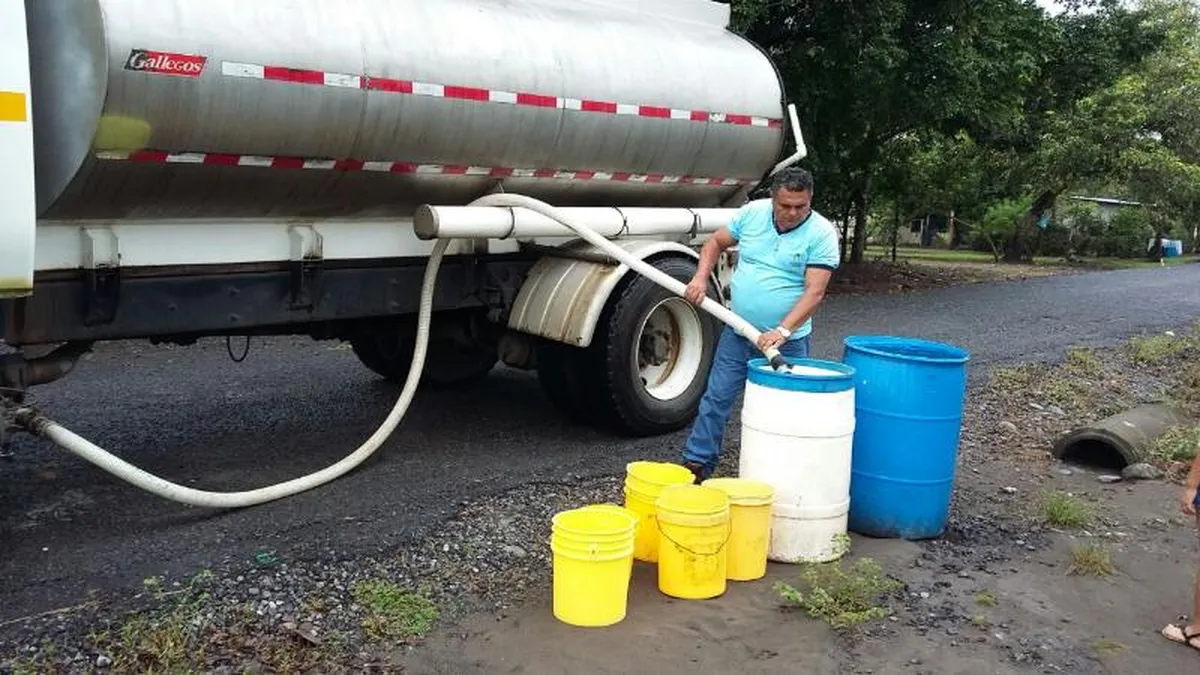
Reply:
<svg viewBox="0 0 1200 675"><path fill-rule="evenodd" d="M434 98L456 98L460 101L479 101L486 103L508 103L512 106L530 106L535 108L558 108L584 113L608 113L614 115L632 115L640 118L658 118L670 120L703 121L713 124L731 124L734 126L758 126L779 129L782 120L755 115L719 113L709 110L685 110L682 108L664 108L636 103L617 103L590 98L564 98L547 94L526 91L503 91L478 86L458 86L433 84L410 79L391 79L365 74L336 73L288 68L282 66L262 66L258 64L239 64L222 61L221 72L228 77L247 77L271 82L292 82L318 86L340 86L365 89L368 91L386 91L390 94L408 94L413 96L431 96Z"/></svg>

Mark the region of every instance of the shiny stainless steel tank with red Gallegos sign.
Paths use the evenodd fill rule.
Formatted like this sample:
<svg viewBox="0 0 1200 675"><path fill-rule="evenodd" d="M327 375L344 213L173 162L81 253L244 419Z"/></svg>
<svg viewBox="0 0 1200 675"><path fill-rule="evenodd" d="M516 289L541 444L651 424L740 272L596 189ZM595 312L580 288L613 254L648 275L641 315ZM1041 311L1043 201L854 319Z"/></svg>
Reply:
<svg viewBox="0 0 1200 675"><path fill-rule="evenodd" d="M26 0L40 214L408 216L497 180L560 205L719 205L779 157L778 72L721 25L637 5Z"/></svg>

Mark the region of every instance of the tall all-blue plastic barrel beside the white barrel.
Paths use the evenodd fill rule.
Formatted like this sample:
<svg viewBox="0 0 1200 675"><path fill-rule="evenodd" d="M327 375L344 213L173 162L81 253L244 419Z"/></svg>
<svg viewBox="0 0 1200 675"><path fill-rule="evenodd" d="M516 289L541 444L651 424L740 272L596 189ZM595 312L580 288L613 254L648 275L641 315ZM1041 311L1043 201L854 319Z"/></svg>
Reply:
<svg viewBox="0 0 1200 675"><path fill-rule="evenodd" d="M890 335L853 335L844 347L856 389L850 530L901 539L941 536L971 356L952 345Z"/></svg>

